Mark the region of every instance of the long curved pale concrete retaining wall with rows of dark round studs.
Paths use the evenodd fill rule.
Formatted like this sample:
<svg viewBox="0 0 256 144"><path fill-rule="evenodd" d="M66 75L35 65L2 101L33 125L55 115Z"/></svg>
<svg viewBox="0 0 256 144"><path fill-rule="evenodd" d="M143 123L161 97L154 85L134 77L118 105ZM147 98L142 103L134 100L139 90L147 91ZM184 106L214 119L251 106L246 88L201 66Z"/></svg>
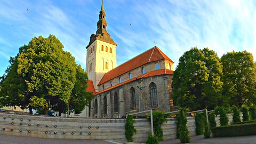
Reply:
<svg viewBox="0 0 256 144"><path fill-rule="evenodd" d="M229 116L230 117L230 116ZM219 118L217 123L219 125ZM148 119L135 119L135 142L145 142L150 132ZM0 134L49 139L94 139L126 142L125 119L67 118L0 113ZM195 119L188 117L189 135L196 135ZM162 125L164 140L176 138L175 118Z"/></svg>

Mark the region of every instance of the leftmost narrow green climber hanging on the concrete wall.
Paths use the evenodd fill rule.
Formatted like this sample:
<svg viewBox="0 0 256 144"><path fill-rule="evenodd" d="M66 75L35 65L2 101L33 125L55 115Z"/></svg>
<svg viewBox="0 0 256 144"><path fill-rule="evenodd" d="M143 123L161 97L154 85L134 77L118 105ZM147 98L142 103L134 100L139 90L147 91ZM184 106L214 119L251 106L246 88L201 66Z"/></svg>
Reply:
<svg viewBox="0 0 256 144"><path fill-rule="evenodd" d="M133 119L133 117L131 115L129 115L126 119L126 123L125 123L125 137L127 139L128 142L132 142L132 136L134 133L136 133L136 129L134 128L134 124L135 121Z"/></svg>

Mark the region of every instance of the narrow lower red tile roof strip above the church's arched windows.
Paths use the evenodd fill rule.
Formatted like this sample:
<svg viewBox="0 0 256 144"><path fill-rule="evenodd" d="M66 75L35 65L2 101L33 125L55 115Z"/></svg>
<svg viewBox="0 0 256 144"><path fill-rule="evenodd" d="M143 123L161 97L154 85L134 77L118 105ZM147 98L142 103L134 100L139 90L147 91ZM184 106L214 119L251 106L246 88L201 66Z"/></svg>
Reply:
<svg viewBox="0 0 256 144"><path fill-rule="evenodd" d="M125 82L122 82L122 83L119 83L119 84L117 84L117 85L108 87L107 89L102 90L102 91L99 91L99 92L95 93L94 95L98 95L98 94L100 94L100 93L109 91L109 90L111 90L111 89L115 89L115 88L118 87L118 86L122 86L122 85L124 85L124 84L130 83L130 82L132 82L132 81L135 81L136 79L145 78L145 77L151 77L151 76L158 76L158 75L173 75L173 71L172 71L172 70L169 70L169 69L159 69L159 70L149 71L149 72L146 73L146 74L143 74L143 75L134 77L134 78L129 79L129 80L125 81Z"/></svg>

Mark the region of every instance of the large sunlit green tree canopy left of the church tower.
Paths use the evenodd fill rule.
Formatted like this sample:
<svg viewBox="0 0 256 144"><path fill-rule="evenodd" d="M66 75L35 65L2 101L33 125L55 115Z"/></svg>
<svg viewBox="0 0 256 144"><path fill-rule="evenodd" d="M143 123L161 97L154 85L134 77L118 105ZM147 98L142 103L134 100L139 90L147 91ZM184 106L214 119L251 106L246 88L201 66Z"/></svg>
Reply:
<svg viewBox="0 0 256 144"><path fill-rule="evenodd" d="M53 35L31 39L28 45L19 48L10 64L0 82L1 106L21 106L30 111L31 108L51 108L62 112L68 100L80 103L81 110L80 107L88 104L83 101L92 97L86 93L87 74L76 65L69 52L63 51L63 45Z"/></svg>

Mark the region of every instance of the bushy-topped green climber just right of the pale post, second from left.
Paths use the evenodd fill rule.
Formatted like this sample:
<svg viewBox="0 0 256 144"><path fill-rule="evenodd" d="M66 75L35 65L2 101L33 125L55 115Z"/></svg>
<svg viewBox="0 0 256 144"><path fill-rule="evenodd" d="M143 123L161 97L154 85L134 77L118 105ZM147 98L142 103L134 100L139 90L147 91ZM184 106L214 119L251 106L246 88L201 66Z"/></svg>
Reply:
<svg viewBox="0 0 256 144"><path fill-rule="evenodd" d="M163 129L162 124L166 122L167 115L162 111L154 111L153 112L153 127L154 134L159 141L163 140ZM148 118L150 121L150 117Z"/></svg>

